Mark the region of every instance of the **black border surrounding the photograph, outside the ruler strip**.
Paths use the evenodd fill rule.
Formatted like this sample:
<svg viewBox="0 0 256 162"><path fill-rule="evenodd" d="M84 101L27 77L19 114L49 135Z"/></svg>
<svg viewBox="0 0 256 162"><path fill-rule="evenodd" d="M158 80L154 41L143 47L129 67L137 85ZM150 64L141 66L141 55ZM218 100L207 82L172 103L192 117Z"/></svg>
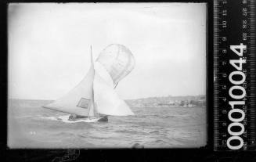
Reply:
<svg viewBox="0 0 256 162"><path fill-rule="evenodd" d="M207 146L200 149L8 149L7 143L7 4L9 2L73 2L10 0L0 2L1 131L0 156L6 161L256 161L253 152L213 151L213 0L160 2L207 2ZM85 2L85 1L75 1ZM91 1L96 2L96 1ZM103 1L110 2L110 1ZM120 1L111 1L120 2ZM125 1L136 2L136 1ZM152 2L152 1L139 1ZM1 158L2 159L2 158Z"/></svg>

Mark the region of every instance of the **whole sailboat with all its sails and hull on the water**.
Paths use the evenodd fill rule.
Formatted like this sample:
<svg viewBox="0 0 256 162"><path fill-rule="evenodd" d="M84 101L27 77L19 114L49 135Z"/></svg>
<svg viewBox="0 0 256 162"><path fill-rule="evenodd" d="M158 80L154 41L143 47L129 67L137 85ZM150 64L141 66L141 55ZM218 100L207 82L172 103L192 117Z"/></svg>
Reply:
<svg viewBox="0 0 256 162"><path fill-rule="evenodd" d="M96 61L91 46L91 67L82 81L67 95L43 106L70 113L77 119L63 117L68 122L108 121L107 116L134 115L130 107L115 92L118 83L135 67L132 52L124 45L108 45Z"/></svg>

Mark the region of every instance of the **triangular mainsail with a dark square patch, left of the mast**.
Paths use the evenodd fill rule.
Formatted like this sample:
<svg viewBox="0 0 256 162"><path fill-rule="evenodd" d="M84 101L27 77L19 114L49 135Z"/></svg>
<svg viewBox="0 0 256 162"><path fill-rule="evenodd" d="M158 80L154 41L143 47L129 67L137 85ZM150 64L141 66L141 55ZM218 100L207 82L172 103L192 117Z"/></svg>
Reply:
<svg viewBox="0 0 256 162"><path fill-rule="evenodd" d="M88 116L92 98L92 81L94 79L94 69L90 68L84 79L67 95L50 103L45 108L72 113L81 116Z"/></svg>

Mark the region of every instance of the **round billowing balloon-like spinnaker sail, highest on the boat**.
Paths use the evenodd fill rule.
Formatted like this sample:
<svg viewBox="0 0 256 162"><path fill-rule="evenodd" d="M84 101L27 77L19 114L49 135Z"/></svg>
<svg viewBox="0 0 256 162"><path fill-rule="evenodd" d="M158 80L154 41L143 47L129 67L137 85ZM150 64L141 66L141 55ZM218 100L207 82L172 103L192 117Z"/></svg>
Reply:
<svg viewBox="0 0 256 162"><path fill-rule="evenodd" d="M97 62L109 72L116 86L122 78L128 75L135 67L132 52L124 45L112 44L100 52Z"/></svg>

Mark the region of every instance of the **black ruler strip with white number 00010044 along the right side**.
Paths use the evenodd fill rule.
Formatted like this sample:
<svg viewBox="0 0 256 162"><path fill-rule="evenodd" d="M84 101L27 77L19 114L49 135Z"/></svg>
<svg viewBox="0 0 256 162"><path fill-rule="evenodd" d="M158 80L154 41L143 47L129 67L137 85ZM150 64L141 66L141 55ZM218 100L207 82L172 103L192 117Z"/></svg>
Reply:
<svg viewBox="0 0 256 162"><path fill-rule="evenodd" d="M214 1L214 149L256 150L255 1Z"/></svg>

